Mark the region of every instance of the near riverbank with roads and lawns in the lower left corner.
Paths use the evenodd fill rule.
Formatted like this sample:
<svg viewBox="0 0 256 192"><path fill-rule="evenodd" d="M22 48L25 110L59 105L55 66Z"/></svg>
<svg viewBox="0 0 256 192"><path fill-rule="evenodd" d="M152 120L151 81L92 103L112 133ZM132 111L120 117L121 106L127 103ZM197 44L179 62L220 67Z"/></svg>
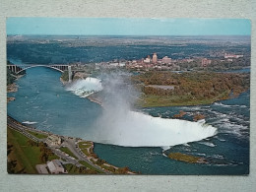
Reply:
<svg viewBox="0 0 256 192"><path fill-rule="evenodd" d="M49 159L47 158L47 160L64 160L64 166L69 167L69 171L71 171L69 173L135 174L135 172L129 170L128 167L117 167L107 163L105 160L98 159L94 153L95 144L92 141L85 141L80 138L64 137L61 135L52 134L50 132L36 130L31 126L23 125L10 116L8 116L7 122L9 146L8 162L10 162L8 163L8 170L10 173L36 173L35 165L42 162L45 163L46 161L43 161L44 159L39 158L40 153L38 154L36 145L34 146L31 144L33 142L37 144L40 142L44 143L43 145L46 145L47 149L52 153L52 155L49 157ZM62 142L58 145L49 144L49 137L61 138ZM27 153L20 149L21 145L26 146ZM35 155L32 157L28 154L28 152L31 151L36 151ZM11 155L9 156L9 154ZM71 161L69 162L69 160ZM16 166L14 162L16 162L18 166ZM71 164L72 168L66 164ZM30 168L27 169L27 166ZM86 169L81 169L81 166L85 166Z"/></svg>

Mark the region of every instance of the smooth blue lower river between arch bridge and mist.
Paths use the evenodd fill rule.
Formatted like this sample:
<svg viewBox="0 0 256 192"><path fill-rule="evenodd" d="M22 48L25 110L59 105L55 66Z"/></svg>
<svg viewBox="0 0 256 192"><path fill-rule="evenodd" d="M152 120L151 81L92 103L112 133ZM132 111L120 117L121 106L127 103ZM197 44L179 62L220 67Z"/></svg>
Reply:
<svg viewBox="0 0 256 192"><path fill-rule="evenodd" d="M8 103L8 114L21 122L37 122L33 126L41 130L90 139L86 133L92 131L101 107L67 92L60 76L60 72L45 67L27 70L18 81L19 92L9 94L16 100Z"/></svg>

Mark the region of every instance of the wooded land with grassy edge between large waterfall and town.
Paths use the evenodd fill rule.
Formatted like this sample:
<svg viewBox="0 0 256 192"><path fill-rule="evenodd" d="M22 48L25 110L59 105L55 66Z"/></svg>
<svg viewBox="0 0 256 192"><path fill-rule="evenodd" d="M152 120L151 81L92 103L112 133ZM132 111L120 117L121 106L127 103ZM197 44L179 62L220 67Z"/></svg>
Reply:
<svg viewBox="0 0 256 192"><path fill-rule="evenodd" d="M250 85L248 73L148 72L132 80L141 92L136 103L140 107L212 104L237 97Z"/></svg>

